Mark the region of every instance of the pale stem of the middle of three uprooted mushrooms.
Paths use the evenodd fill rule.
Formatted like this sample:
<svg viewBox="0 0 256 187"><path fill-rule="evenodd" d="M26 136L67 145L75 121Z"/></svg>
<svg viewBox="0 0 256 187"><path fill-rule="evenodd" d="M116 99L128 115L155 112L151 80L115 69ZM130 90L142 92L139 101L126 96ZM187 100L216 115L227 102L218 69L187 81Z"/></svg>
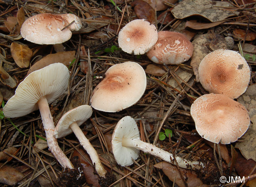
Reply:
<svg viewBox="0 0 256 187"><path fill-rule="evenodd" d="M80 144L83 146L83 148L89 154L93 164L95 163L95 170L97 171L99 176L105 178L106 170L103 168L103 165L101 164L101 161L99 160L97 151L91 145L90 141L84 136L83 131L80 129L80 127L78 126L78 124L76 122L73 122L69 127L73 130L73 132L75 133Z"/></svg>

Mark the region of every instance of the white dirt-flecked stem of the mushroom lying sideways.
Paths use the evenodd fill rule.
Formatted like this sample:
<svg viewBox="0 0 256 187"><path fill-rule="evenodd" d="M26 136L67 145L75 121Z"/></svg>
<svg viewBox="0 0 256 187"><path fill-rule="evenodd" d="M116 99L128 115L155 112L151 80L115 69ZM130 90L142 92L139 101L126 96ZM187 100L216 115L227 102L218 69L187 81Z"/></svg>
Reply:
<svg viewBox="0 0 256 187"><path fill-rule="evenodd" d="M176 162L174 161L172 153L164 151L163 149L160 149L153 144L149 144L144 141L141 141L140 139L129 139L129 138L123 137L122 145L124 147L137 148L143 152L149 153L154 156L158 156L162 160L176 165ZM181 157L178 157L178 156L175 156L175 158L177 160L178 166L181 168L200 169L200 167L204 167L204 164L199 163L199 161L189 161L189 160L182 159Z"/></svg>

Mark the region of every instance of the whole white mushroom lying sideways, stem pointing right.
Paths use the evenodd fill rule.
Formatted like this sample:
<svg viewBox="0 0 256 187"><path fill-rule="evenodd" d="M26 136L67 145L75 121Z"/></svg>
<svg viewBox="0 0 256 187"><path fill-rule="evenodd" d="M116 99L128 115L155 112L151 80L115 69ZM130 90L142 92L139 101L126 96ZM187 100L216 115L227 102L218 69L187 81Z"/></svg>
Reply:
<svg viewBox="0 0 256 187"><path fill-rule="evenodd" d="M173 162L172 153L140 140L138 126L130 116L125 116L118 121L112 135L112 150L117 163L121 166L133 164L132 159L136 160L138 158L139 150L176 164L176 162ZM181 168L199 169L204 167L204 164L199 161L189 161L178 156L175 156L175 158Z"/></svg>

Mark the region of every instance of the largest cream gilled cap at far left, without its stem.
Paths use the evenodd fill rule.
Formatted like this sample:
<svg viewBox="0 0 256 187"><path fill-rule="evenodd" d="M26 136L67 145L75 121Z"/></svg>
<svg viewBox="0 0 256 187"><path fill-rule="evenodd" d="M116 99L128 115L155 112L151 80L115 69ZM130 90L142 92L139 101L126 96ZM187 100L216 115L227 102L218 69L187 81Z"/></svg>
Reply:
<svg viewBox="0 0 256 187"><path fill-rule="evenodd" d="M25 116L38 109L43 96L48 104L59 98L68 87L69 71L62 63L53 63L30 73L17 87L3 112L5 117Z"/></svg>

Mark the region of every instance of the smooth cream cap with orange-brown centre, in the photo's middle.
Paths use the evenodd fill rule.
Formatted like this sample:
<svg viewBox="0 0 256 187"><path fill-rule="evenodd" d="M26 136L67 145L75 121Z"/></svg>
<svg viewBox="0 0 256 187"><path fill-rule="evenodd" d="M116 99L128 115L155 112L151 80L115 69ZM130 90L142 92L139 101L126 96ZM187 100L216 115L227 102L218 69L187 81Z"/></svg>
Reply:
<svg viewBox="0 0 256 187"><path fill-rule="evenodd" d="M104 112L118 112L135 104L143 96L147 79L136 62L124 62L110 67L106 77L94 88L91 106Z"/></svg>

